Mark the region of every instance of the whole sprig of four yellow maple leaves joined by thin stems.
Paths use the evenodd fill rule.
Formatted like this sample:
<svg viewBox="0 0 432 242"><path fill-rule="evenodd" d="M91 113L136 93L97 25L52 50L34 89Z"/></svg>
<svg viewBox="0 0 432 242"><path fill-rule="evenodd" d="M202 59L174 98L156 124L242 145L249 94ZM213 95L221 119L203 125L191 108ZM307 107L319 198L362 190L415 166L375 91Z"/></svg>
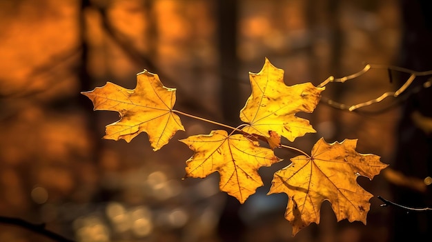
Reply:
<svg viewBox="0 0 432 242"><path fill-rule="evenodd" d="M129 142L146 132L153 150L159 150L179 130L184 130L179 115L217 123L226 130L212 130L181 139L194 154L186 161L186 177L204 178L219 172L219 188L244 203L263 184L258 170L282 161L275 148L302 153L291 164L275 172L268 194L286 193L285 217L293 225L293 235L310 223L320 223L320 208L329 201L337 221L362 221L366 224L369 199L373 196L356 181L373 177L386 168L375 154L355 151L357 140L326 143L320 139L311 154L281 143L281 137L294 141L315 130L297 112L311 113L320 101L325 87L312 83L288 86L284 70L275 68L268 59L258 73L250 73L252 94L240 111L244 122L237 128L195 117L174 109L175 89L166 88L157 74L147 70L137 74L134 90L106 83L101 88L82 92L95 110L119 112L120 119L106 126L105 139ZM262 144L267 144L262 146Z"/></svg>

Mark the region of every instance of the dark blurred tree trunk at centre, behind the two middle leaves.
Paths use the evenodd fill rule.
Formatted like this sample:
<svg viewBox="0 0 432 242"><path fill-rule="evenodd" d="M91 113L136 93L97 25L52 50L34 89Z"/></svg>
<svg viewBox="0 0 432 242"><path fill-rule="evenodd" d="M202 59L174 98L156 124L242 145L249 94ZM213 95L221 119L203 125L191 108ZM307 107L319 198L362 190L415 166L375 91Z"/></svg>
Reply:
<svg viewBox="0 0 432 242"><path fill-rule="evenodd" d="M217 37L219 43L220 99L224 121L236 125L239 119L239 81L237 79L239 61L237 59L237 0L219 0L217 4ZM226 204L222 211L218 234L222 241L241 240L244 225L239 218L240 203L226 194Z"/></svg>

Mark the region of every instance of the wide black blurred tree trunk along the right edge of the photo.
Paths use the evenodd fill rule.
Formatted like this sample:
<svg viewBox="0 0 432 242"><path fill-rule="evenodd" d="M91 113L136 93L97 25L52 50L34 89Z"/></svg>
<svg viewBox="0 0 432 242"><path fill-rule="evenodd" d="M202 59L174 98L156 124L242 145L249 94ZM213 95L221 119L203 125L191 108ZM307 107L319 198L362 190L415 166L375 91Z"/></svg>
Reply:
<svg viewBox="0 0 432 242"><path fill-rule="evenodd" d="M404 68L415 71L432 70L432 2L402 0L402 46L400 63ZM401 76L402 85L406 76ZM430 77L417 77L411 89L422 85ZM424 132L413 122L413 113L432 118L432 88L422 88L412 94L402 109L397 130L397 147L393 168L409 177L425 179L432 177L432 134ZM429 185L426 192L416 192L408 188L393 187L396 203L413 208L432 206L432 191ZM394 227L391 241L422 241L432 239L432 213L406 212L393 210Z"/></svg>

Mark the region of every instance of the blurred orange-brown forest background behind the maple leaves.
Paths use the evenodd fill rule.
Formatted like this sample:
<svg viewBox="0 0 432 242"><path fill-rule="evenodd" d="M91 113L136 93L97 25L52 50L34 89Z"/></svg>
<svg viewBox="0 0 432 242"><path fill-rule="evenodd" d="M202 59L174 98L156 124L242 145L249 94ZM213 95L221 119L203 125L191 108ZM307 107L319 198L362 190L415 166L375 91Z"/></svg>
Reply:
<svg viewBox="0 0 432 242"><path fill-rule="evenodd" d="M76 241L390 241L397 211L380 207L376 197L366 226L336 223L325 203L320 225L291 237L286 196L266 192L273 172L297 154L277 151L285 161L260 170L266 185L239 205L219 192L217 174L181 180L192 152L175 140L213 125L181 117L186 132L157 152L146 134L130 143L103 140L104 126L118 114L93 112L79 92L106 81L135 88L136 74L147 69L177 88L177 110L239 125L251 92L248 72L259 72L265 57L285 70L287 85L317 85L365 63L432 69L431 61L407 61L404 40L416 35L406 35L404 11L424 8L406 2L0 1L0 216L46 223ZM411 26L421 26L422 12L413 16ZM427 54L429 43L415 47ZM371 70L329 84L322 95L353 105L401 83L390 82L386 70ZM320 103L313 114L299 114L317 134L294 146L310 152L319 137L359 139L359 152L392 165L404 117L393 101L362 114ZM381 175L359 182L375 196L394 196ZM0 224L0 241L50 240Z"/></svg>

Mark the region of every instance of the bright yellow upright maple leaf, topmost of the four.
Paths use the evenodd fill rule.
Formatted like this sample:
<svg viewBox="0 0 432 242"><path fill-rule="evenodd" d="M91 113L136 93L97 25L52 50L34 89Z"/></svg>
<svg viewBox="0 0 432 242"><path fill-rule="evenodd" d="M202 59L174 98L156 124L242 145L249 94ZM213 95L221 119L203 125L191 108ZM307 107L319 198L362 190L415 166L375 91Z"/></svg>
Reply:
<svg viewBox="0 0 432 242"><path fill-rule="evenodd" d="M308 120L295 114L313 112L324 88L312 83L285 85L284 70L275 68L268 59L260 72L249 72L249 79L252 94L240 111L240 119L248 123L244 132L271 138L269 131L273 131L289 141L316 132Z"/></svg>

